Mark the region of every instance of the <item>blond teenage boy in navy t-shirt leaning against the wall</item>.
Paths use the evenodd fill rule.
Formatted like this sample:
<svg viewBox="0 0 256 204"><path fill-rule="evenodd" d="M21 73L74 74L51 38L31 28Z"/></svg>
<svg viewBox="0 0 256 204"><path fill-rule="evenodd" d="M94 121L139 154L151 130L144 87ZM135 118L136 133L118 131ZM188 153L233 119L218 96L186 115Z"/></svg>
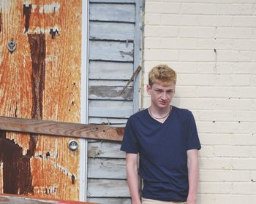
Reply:
<svg viewBox="0 0 256 204"><path fill-rule="evenodd" d="M132 204L140 204L138 166L143 178L143 204L197 203L201 146L192 112L170 106L175 87L176 72L172 68L152 68L146 86L151 106L127 121L121 150L127 152Z"/></svg>

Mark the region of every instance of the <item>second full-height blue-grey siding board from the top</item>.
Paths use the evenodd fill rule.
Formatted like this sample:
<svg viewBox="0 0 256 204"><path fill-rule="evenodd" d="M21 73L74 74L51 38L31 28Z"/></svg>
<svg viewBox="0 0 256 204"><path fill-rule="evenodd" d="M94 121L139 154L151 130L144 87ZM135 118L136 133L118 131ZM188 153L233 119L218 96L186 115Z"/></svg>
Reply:
<svg viewBox="0 0 256 204"><path fill-rule="evenodd" d="M90 39L125 40L134 39L133 23L94 22L89 25Z"/></svg>

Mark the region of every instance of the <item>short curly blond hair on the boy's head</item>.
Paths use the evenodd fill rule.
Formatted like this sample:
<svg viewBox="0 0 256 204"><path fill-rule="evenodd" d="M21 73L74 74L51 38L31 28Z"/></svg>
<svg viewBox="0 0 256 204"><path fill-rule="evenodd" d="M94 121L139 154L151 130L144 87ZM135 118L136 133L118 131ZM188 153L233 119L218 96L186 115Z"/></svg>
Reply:
<svg viewBox="0 0 256 204"><path fill-rule="evenodd" d="M165 64L154 66L148 73L148 85L152 87L156 82L176 84L176 72Z"/></svg>

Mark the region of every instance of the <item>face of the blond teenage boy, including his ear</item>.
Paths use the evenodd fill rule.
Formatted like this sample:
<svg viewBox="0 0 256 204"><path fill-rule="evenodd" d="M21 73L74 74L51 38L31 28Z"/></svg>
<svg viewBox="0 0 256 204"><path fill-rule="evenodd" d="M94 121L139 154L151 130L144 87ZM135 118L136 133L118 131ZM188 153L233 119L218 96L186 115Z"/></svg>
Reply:
<svg viewBox="0 0 256 204"><path fill-rule="evenodd" d="M175 84L156 82L152 86L147 85L146 90L151 95L151 106L165 109L173 100Z"/></svg>

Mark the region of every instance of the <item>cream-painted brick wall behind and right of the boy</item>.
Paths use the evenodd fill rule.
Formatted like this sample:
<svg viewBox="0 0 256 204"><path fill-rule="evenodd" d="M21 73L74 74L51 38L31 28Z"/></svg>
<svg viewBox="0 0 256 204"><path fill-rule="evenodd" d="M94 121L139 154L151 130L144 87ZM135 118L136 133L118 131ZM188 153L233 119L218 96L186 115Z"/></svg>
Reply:
<svg viewBox="0 0 256 204"><path fill-rule="evenodd" d="M158 63L178 73L173 105L193 112L203 147L198 204L256 203L256 0L145 6L143 83Z"/></svg>

